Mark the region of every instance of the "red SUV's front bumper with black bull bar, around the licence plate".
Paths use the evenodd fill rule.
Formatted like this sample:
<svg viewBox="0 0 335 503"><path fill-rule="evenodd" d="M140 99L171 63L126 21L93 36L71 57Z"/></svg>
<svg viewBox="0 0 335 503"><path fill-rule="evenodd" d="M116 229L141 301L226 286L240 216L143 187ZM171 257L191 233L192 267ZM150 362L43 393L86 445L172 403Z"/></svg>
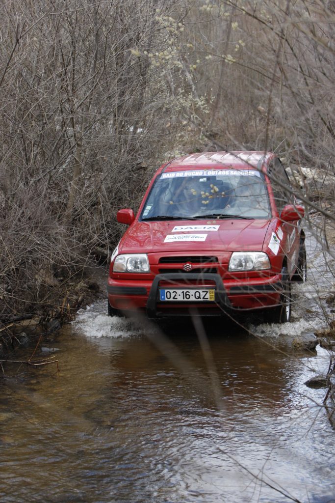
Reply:
<svg viewBox="0 0 335 503"><path fill-rule="evenodd" d="M224 280L219 274L165 273L153 280L114 280L108 278L107 292L111 306L122 311L146 312L149 318L189 315L221 315L236 311L275 306L282 292L281 274L268 278ZM213 302L162 302L160 287L214 288Z"/></svg>

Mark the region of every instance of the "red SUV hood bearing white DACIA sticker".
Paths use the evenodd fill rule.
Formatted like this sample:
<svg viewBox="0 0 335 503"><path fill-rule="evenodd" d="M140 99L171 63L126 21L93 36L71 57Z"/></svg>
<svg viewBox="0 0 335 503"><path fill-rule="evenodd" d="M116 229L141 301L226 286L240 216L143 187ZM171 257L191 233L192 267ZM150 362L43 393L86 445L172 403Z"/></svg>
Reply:
<svg viewBox="0 0 335 503"><path fill-rule="evenodd" d="M270 220L135 221L119 253L262 250Z"/></svg>

